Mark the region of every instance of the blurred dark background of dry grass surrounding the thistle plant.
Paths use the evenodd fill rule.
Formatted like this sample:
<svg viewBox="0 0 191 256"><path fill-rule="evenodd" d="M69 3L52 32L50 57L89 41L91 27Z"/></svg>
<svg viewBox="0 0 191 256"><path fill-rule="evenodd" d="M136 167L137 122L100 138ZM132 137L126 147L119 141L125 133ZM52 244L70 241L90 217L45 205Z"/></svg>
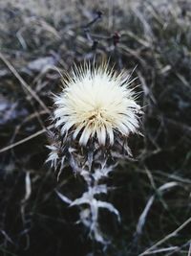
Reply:
<svg viewBox="0 0 191 256"><path fill-rule="evenodd" d="M105 250L55 193L78 178L45 164L60 73L94 58L138 78L144 110L136 161L107 180L122 221L100 214ZM0 0L0 137L0 255L190 256L191 1Z"/></svg>

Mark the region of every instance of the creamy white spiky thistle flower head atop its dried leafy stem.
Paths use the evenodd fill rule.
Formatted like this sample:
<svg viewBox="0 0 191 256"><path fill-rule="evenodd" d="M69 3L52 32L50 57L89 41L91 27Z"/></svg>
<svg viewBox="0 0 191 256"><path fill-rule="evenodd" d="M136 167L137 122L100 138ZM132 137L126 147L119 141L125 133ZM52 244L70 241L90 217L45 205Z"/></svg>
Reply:
<svg viewBox="0 0 191 256"><path fill-rule="evenodd" d="M108 64L75 67L54 98L55 128L83 147L93 141L112 146L116 135L135 133L140 106L130 83L130 76L117 74Z"/></svg>

